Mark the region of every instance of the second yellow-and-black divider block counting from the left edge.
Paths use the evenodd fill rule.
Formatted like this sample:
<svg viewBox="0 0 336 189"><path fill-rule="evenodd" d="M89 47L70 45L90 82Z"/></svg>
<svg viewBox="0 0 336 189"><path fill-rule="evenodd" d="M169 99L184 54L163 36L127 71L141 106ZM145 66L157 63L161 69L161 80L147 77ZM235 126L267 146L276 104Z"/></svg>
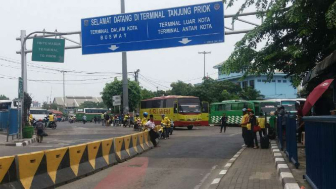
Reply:
<svg viewBox="0 0 336 189"><path fill-rule="evenodd" d="M19 179L25 189L41 189L54 186L47 173L44 152L33 152L16 156Z"/></svg>

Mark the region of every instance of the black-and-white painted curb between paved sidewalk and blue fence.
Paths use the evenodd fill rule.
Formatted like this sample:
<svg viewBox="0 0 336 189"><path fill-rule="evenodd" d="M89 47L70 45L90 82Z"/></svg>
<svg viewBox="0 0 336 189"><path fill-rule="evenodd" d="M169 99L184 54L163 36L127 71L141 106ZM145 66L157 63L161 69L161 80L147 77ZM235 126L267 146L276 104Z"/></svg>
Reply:
<svg viewBox="0 0 336 189"><path fill-rule="evenodd" d="M290 168L284 161L283 156L276 144L276 141L271 141L271 152L274 159L274 165L279 175L279 179L284 189L300 189Z"/></svg>

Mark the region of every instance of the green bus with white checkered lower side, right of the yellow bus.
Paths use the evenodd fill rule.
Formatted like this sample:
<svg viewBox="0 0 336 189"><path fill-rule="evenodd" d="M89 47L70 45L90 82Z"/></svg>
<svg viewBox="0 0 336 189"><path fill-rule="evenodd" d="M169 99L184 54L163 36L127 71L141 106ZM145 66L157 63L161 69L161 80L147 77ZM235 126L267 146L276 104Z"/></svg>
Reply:
<svg viewBox="0 0 336 189"><path fill-rule="evenodd" d="M267 113L267 121L269 120L270 113L276 111L276 102L270 101L244 101L244 100L231 100L222 101L220 103L212 103L210 106L210 123L219 124L223 113L226 113L228 124L240 124L243 113L243 108L250 108L255 112L256 117L260 112Z"/></svg>

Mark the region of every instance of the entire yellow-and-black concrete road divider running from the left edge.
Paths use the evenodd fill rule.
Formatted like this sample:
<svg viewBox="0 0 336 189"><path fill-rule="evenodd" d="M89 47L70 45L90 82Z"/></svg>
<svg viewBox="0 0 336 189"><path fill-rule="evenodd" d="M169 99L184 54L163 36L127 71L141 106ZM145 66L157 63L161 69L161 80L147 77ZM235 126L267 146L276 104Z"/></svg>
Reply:
<svg viewBox="0 0 336 189"><path fill-rule="evenodd" d="M153 148L148 131L70 147L0 157L1 189L54 188Z"/></svg>

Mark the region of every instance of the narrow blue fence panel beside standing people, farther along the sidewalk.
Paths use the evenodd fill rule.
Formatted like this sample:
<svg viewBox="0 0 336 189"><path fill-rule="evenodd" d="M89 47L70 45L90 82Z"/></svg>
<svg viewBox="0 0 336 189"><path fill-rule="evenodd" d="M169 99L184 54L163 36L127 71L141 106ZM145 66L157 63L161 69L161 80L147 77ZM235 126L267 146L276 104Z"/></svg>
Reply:
<svg viewBox="0 0 336 189"><path fill-rule="evenodd" d="M298 144L297 144L297 129L296 115L285 116L286 119L286 150L285 153L289 160L294 163L296 168L299 168L298 162Z"/></svg>

